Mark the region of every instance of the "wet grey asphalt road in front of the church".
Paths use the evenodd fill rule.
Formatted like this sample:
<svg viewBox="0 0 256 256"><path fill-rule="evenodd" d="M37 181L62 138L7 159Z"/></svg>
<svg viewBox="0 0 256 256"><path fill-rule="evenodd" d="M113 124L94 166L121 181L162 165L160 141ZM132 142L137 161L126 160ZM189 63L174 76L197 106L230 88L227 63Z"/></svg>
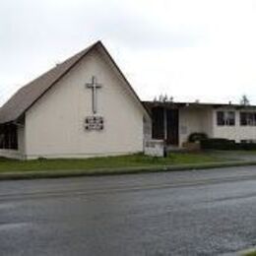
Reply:
<svg viewBox="0 0 256 256"><path fill-rule="evenodd" d="M256 167L0 182L0 255L222 255L256 244Z"/></svg>

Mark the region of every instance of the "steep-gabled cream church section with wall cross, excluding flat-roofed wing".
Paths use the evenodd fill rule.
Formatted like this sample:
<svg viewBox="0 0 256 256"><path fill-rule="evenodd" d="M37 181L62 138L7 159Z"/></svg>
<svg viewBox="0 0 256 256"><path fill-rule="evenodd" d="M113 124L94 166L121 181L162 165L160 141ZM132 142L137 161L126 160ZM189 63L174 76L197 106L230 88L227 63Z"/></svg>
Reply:
<svg viewBox="0 0 256 256"><path fill-rule="evenodd" d="M143 152L151 117L104 45L20 89L0 108L0 156L89 158Z"/></svg>

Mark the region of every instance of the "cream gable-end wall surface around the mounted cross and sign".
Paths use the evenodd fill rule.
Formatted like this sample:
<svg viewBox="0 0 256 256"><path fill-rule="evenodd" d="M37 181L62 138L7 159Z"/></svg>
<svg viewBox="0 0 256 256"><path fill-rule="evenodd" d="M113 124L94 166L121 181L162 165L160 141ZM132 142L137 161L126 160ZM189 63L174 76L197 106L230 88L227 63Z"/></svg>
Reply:
<svg viewBox="0 0 256 256"><path fill-rule="evenodd" d="M85 87L95 75L97 115L102 131L86 131L92 113L92 91ZM106 60L95 50L38 99L26 113L28 159L82 158L143 151L145 111Z"/></svg>

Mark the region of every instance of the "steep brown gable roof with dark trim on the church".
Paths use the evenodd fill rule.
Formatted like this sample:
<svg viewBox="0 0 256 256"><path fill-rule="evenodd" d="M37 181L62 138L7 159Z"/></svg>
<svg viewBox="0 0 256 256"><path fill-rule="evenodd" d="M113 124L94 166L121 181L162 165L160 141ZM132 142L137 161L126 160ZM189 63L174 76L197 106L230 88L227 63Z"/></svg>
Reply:
<svg viewBox="0 0 256 256"><path fill-rule="evenodd" d="M61 80L76 64L84 58L91 50L96 46L100 46L107 56L110 58L117 71L121 74L124 81L130 88L131 92L140 101L140 98L136 95L129 82L126 80L121 70L118 68L106 48L101 41L97 41L85 50L77 53L73 57L65 60L56 67L50 69L46 73L42 74L31 83L21 88L14 96L12 96L1 108L0 108L0 123L8 123L16 121L32 106L32 104L41 96L43 96L53 85ZM145 106L140 101L143 108L147 111ZM147 111L148 112L148 111Z"/></svg>

